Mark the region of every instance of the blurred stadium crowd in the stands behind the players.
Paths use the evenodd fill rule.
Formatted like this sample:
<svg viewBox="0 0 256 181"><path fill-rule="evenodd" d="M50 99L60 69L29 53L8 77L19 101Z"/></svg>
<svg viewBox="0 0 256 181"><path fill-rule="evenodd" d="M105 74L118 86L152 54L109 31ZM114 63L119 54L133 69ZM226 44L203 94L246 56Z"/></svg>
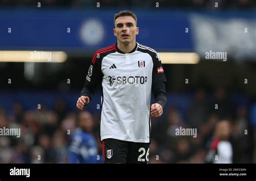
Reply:
<svg viewBox="0 0 256 181"><path fill-rule="evenodd" d="M185 110L169 105L163 117L151 120L150 163L206 163L215 126L224 119L231 125L228 140L232 144L232 163L256 162L256 128L250 121L255 105L254 109L243 104L234 106L223 88L215 91L211 102L206 98L207 93L198 89ZM102 163L99 113L80 116L81 112L70 111L64 100L55 102L53 109L42 105L40 109L24 110L18 102L11 112L2 107L0 128L21 128L21 137L0 136L0 163L69 163L71 137L78 119L91 120L87 134L95 138L97 163ZM177 135L180 128L196 128L196 135Z"/></svg>

